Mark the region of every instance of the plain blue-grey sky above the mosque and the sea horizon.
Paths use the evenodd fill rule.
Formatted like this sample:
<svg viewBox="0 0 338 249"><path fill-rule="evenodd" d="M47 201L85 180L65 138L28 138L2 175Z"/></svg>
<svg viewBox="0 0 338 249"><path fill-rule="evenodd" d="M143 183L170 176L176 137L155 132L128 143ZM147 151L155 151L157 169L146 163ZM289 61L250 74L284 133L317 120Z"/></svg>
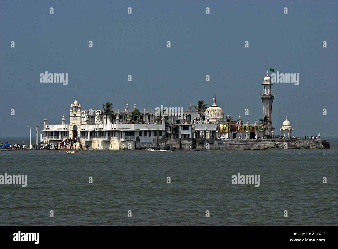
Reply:
<svg viewBox="0 0 338 249"><path fill-rule="evenodd" d="M69 123L75 97L83 110L100 109L107 101L120 110L126 103L134 109L134 102L140 110L161 105L187 110L198 100L212 105L216 93L225 115L238 119L241 113L246 120L248 109L254 123L263 116L260 91L270 67L299 73L298 86L272 86L275 134L287 115L295 136L337 136L337 6L337 1L2 0L0 137L27 136L28 125L41 128L44 118L59 124L63 114ZM45 71L67 73L68 85L40 83Z"/></svg>

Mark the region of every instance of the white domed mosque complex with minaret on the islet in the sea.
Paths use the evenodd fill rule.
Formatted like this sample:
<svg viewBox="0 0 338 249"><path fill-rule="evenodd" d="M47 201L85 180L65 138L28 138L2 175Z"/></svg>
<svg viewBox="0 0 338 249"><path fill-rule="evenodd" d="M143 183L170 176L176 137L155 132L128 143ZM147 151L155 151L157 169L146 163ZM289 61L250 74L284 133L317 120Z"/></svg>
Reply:
<svg viewBox="0 0 338 249"><path fill-rule="evenodd" d="M271 77L268 72L263 80L263 92L261 99L263 103L263 117L267 116L272 122L272 102L274 92L271 92ZM134 110L136 110L136 103ZM101 117L101 110L82 110L81 104L75 98L70 106L70 122L66 124L65 116L62 124L47 124L44 119L44 128L41 130L40 141L44 143L59 143L67 138L79 138L83 148L92 149L137 149L137 148L197 148L198 144L215 140L233 139L255 139L275 137L273 127L264 127L254 124L249 120L243 124L241 115L237 120L226 122L224 112L216 105L216 96L213 98L213 105L209 106L199 115L193 110L190 104L187 111L176 112L173 115L158 115L153 109L140 110L143 123L128 123L128 104L123 110L114 110L116 119ZM160 117L159 117L160 116ZM157 117L157 119L156 119ZM229 117L229 115L227 116ZM160 122L159 122L160 121ZM284 121L281 129L282 138L292 136L290 121ZM193 145L196 143L196 145ZM216 142L219 143L219 142ZM279 145L278 145L279 146ZM258 146L260 147L260 146ZM218 148L218 147L217 147ZM246 148L244 146L244 148ZM251 146L250 146L251 148Z"/></svg>

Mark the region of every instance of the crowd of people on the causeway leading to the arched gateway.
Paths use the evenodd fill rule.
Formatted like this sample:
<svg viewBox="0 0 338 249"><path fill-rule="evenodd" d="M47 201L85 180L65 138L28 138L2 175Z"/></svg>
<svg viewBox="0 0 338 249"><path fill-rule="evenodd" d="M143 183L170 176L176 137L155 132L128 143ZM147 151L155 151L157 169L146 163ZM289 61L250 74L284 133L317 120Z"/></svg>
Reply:
<svg viewBox="0 0 338 249"><path fill-rule="evenodd" d="M78 145L77 145L77 142ZM79 147L77 147L79 146ZM79 140L79 137L77 138L67 138L66 140L63 140L62 142L58 143L40 143L40 144L30 144L30 149L39 149L39 150L45 150L45 149L82 149L82 144ZM27 149L27 146L25 144L9 144L9 149Z"/></svg>

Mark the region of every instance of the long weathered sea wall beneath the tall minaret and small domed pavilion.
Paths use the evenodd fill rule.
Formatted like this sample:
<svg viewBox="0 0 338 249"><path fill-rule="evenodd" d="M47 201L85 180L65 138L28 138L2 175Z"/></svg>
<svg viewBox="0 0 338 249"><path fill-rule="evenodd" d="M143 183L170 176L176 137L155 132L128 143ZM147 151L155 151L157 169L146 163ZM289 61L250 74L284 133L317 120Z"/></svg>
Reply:
<svg viewBox="0 0 338 249"><path fill-rule="evenodd" d="M322 139L195 139L195 149L324 149L330 143Z"/></svg>

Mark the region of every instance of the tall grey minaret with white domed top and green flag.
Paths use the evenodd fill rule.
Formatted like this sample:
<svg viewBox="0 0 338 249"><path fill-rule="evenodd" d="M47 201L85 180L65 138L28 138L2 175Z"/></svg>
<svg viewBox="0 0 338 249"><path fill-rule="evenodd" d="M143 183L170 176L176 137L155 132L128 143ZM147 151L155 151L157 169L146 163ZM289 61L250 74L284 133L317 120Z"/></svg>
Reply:
<svg viewBox="0 0 338 249"><path fill-rule="evenodd" d="M263 102L263 118L268 116L269 121L272 122L272 102L274 98L274 92L271 93L271 77L268 76L268 71L266 71L266 76L263 81L263 93L261 92L261 99ZM267 134L271 135L271 128L267 130Z"/></svg>

